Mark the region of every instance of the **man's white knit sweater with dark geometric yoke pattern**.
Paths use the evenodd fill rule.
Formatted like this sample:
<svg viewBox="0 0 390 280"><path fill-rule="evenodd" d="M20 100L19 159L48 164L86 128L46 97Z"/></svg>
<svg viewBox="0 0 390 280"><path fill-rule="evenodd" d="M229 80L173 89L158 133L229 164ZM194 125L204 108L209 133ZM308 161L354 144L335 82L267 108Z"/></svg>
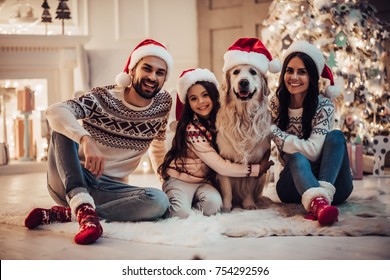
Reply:
<svg viewBox="0 0 390 280"><path fill-rule="evenodd" d="M172 98L164 90L148 106L136 107L125 101L124 89L107 86L51 105L46 117L53 130L77 143L84 135L92 136L105 156L103 175L125 181L149 147L154 170L162 163L171 106ZM83 164L81 149L79 158Z"/></svg>

